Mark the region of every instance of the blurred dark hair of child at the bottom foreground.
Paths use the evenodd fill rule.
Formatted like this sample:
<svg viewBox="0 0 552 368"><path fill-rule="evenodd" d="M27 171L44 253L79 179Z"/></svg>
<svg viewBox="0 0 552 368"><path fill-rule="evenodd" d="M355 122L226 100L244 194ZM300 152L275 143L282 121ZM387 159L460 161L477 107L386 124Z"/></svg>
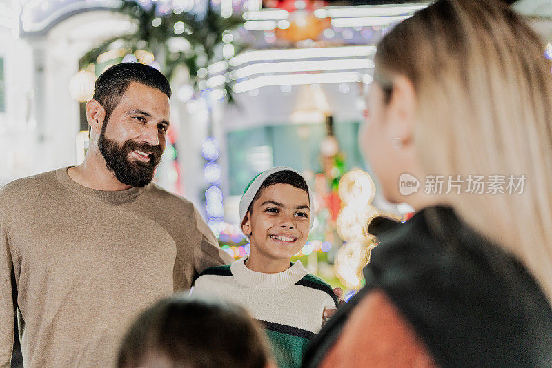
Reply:
<svg viewBox="0 0 552 368"><path fill-rule="evenodd" d="M148 358L174 367L264 368L268 349L261 327L242 307L173 296L144 311L130 327L117 367Z"/></svg>

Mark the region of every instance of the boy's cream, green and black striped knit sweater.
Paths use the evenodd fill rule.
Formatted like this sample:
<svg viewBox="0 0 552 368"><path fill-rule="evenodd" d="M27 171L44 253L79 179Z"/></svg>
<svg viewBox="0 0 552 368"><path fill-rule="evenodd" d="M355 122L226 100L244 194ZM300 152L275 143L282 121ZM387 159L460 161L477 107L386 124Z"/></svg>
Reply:
<svg viewBox="0 0 552 368"><path fill-rule="evenodd" d="M322 327L322 312L339 307L337 297L301 262L265 274L248 269L246 259L205 269L193 294L215 295L246 308L264 325L278 366L300 367L308 343Z"/></svg>

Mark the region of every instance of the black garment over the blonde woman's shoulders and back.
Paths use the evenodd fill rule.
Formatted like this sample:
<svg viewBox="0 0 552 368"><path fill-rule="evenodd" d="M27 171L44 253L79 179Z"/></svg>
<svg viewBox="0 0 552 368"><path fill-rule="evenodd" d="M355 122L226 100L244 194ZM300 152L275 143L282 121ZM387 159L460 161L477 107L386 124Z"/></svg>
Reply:
<svg viewBox="0 0 552 368"><path fill-rule="evenodd" d="M322 362L373 289L388 295L441 367L552 367L544 294L515 258L451 209L424 209L379 238L364 268L366 286L315 337L304 367Z"/></svg>

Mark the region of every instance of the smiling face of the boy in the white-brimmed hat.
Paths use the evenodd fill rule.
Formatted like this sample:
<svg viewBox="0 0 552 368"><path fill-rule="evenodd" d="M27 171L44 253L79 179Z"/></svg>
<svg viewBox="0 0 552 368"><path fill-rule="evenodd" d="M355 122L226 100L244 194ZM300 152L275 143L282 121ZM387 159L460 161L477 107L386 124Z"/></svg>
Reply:
<svg viewBox="0 0 552 368"><path fill-rule="evenodd" d="M266 265L275 261L289 263L308 236L308 194L290 184L273 184L261 190L242 223L243 232L251 239L250 258Z"/></svg>

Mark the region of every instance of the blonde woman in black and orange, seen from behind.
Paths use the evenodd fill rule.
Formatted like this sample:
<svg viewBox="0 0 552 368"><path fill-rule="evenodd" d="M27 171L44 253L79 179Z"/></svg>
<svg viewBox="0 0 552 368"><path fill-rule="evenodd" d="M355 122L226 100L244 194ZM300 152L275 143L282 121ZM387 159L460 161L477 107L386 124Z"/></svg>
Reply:
<svg viewBox="0 0 552 368"><path fill-rule="evenodd" d="M552 74L495 0L442 0L375 56L362 147L415 216L306 367L552 367ZM419 186L417 186L419 185Z"/></svg>

